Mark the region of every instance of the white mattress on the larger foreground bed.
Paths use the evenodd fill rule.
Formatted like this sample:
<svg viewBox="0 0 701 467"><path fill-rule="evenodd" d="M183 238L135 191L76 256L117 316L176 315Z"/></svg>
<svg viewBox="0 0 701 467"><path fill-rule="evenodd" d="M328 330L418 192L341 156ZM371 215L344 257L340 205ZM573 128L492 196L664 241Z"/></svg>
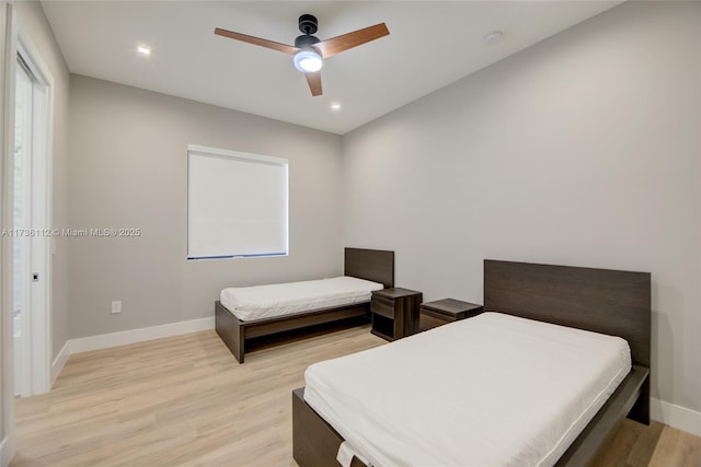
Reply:
<svg viewBox="0 0 701 467"><path fill-rule="evenodd" d="M630 369L621 338L484 313L311 365L304 400L376 467L550 466Z"/></svg>

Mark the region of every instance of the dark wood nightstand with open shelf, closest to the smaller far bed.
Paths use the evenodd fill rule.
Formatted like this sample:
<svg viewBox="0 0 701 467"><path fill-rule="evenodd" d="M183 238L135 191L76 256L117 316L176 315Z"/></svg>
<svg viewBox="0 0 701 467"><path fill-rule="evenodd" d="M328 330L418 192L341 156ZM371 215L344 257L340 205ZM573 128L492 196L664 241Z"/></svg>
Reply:
<svg viewBox="0 0 701 467"><path fill-rule="evenodd" d="M409 289L391 288L372 292L372 334L391 341L417 332L422 297L421 292Z"/></svg>

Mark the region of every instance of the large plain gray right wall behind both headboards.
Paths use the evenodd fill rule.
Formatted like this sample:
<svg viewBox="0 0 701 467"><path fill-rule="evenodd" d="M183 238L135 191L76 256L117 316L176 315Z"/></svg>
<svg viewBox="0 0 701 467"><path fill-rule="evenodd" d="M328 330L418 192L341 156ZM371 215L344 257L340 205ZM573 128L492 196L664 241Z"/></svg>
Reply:
<svg viewBox="0 0 701 467"><path fill-rule="evenodd" d="M346 135L344 241L425 300L482 303L483 258L651 271L654 396L698 411L700 130L701 3L628 2Z"/></svg>

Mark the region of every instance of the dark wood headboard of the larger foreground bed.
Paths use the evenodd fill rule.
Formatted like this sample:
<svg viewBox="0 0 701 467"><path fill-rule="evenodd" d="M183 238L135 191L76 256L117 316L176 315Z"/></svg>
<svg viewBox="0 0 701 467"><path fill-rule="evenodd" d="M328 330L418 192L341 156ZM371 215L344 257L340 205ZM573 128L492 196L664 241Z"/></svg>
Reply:
<svg viewBox="0 0 701 467"><path fill-rule="evenodd" d="M650 272L485 259L484 310L622 337L650 367Z"/></svg>

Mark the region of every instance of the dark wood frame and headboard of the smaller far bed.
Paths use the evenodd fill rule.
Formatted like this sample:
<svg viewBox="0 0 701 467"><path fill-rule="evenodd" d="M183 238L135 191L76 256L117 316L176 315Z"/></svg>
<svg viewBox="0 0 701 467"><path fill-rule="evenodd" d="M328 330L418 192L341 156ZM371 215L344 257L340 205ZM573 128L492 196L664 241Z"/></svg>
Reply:
<svg viewBox="0 0 701 467"><path fill-rule="evenodd" d="M394 252L345 248L344 275L380 282L386 288L394 287ZM217 301L215 302L215 329L239 363L243 363L246 340L364 316L369 314L369 307L370 302L364 302L243 322Z"/></svg>

